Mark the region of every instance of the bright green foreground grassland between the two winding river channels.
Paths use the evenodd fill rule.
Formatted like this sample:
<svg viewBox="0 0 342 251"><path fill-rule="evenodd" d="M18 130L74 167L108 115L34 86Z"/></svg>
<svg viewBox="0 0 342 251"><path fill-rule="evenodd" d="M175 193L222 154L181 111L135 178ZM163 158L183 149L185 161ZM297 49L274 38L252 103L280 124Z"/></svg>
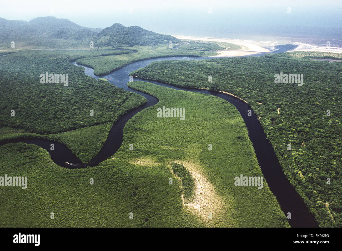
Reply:
<svg viewBox="0 0 342 251"><path fill-rule="evenodd" d="M235 176L262 172L232 104L146 82L129 86L156 96L159 103L127 122L120 149L97 167L61 168L35 145L0 147L1 173L28 177L27 189L0 189L0 226L289 226L265 180L262 189L234 186ZM156 109L163 105L185 108L185 120L158 118ZM172 162L183 167L173 173ZM187 179L184 167L196 179ZM208 204L200 212L182 204L182 177L186 189L194 191L194 180L207 189L200 196Z"/></svg>

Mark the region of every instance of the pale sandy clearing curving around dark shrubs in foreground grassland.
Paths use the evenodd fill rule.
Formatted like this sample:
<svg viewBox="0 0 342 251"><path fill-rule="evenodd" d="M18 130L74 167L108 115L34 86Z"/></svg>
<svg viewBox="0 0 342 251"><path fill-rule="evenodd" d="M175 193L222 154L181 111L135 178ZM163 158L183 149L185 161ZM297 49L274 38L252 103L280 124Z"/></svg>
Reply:
<svg viewBox="0 0 342 251"><path fill-rule="evenodd" d="M214 186L206 179L200 168L193 162L174 162L178 164L183 163L184 167L195 179L195 195L189 200L186 200L183 194L181 195L183 208L200 217L205 223L211 220L208 217L210 213L212 218L215 215L221 214L224 208L223 199L216 193ZM177 176L177 178L179 177Z"/></svg>

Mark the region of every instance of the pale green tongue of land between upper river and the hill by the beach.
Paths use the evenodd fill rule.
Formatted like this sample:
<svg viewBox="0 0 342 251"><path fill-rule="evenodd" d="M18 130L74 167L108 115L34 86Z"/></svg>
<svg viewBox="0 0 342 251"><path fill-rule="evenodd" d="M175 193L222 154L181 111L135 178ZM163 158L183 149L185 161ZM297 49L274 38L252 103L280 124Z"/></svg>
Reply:
<svg viewBox="0 0 342 251"><path fill-rule="evenodd" d="M135 45L126 49L137 52L117 56L84 57L77 60L76 63L93 68L94 74L101 76L130 63L148 58L164 56L215 56L218 54L216 52L174 50L165 44L155 46Z"/></svg>

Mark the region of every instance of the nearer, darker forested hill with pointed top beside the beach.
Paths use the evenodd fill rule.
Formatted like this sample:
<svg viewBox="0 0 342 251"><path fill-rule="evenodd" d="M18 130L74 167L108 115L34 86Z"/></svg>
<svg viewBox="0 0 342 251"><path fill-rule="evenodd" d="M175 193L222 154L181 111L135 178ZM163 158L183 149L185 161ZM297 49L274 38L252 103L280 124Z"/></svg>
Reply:
<svg viewBox="0 0 342 251"><path fill-rule="evenodd" d="M100 31L95 38L95 45L105 46L125 46L150 45L180 43L180 40L170 35L163 35L153 31L145 30L139 26L125 27L115 23Z"/></svg>

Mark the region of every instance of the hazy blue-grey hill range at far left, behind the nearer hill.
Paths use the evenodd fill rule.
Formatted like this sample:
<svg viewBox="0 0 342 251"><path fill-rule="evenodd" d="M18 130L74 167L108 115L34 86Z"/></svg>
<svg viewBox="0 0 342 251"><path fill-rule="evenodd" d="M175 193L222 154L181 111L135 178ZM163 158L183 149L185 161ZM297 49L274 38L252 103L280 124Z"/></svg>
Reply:
<svg viewBox="0 0 342 251"><path fill-rule="evenodd" d="M27 41L35 39L91 39L101 28L86 28L69 19L54 16L37 17L29 22L0 18L0 40Z"/></svg>

